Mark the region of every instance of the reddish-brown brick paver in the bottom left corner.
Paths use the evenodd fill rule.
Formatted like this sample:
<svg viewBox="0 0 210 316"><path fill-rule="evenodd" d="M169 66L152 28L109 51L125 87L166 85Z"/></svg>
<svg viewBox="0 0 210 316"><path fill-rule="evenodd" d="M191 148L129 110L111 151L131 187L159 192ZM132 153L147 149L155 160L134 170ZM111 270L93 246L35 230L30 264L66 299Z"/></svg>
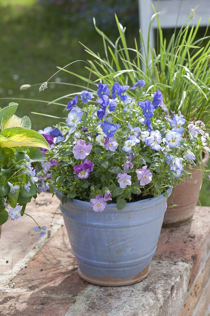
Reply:
<svg viewBox="0 0 210 316"><path fill-rule="evenodd" d="M17 292L0 296L1 316L55 316L64 315L74 297L49 295L38 292Z"/></svg>

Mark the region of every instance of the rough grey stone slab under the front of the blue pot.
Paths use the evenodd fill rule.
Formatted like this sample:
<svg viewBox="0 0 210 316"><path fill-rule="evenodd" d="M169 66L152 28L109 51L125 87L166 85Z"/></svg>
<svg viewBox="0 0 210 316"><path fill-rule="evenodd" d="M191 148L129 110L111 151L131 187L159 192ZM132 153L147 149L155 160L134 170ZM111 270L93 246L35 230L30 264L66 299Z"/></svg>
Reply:
<svg viewBox="0 0 210 316"><path fill-rule="evenodd" d="M88 285L65 316L177 316L187 293L189 264L153 261L145 280L126 287Z"/></svg>

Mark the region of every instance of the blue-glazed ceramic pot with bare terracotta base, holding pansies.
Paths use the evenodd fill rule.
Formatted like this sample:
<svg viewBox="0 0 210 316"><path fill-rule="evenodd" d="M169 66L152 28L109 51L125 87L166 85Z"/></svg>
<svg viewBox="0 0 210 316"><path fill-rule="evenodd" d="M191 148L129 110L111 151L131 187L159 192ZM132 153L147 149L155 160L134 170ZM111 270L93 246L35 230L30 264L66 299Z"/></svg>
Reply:
<svg viewBox="0 0 210 316"><path fill-rule="evenodd" d="M57 193L57 197L61 200L62 195ZM166 202L162 193L127 203L121 211L116 204L108 204L101 213L95 213L88 202L73 199L61 203L81 278L104 286L143 280L156 250Z"/></svg>

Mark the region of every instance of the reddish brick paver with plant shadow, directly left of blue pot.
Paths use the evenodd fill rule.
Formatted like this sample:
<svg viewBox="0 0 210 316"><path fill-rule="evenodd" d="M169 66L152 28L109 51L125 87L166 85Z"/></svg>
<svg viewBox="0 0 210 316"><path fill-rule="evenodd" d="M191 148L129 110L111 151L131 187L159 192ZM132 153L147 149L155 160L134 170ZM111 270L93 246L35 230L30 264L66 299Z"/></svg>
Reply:
<svg viewBox="0 0 210 316"><path fill-rule="evenodd" d="M76 269L66 228L62 227L11 283L14 282L15 287L20 289L76 295L88 284L80 278Z"/></svg>

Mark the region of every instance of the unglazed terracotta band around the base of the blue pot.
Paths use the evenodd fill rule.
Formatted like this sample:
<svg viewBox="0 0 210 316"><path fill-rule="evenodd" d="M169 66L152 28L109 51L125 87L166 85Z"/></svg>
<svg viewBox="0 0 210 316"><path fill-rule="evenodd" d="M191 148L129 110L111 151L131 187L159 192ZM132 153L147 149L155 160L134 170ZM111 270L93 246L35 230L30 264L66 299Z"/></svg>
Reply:
<svg viewBox="0 0 210 316"><path fill-rule="evenodd" d="M135 284L138 283L142 280L144 280L147 275L149 274L149 265L144 268L139 274L132 278L124 279L124 278L117 278L113 276L106 276L106 277L99 277L99 276L87 276L83 272L80 271L80 268L78 268L78 274L79 276L89 282L93 283L96 285L102 285L102 286L125 286L125 285L130 285L130 284Z"/></svg>

